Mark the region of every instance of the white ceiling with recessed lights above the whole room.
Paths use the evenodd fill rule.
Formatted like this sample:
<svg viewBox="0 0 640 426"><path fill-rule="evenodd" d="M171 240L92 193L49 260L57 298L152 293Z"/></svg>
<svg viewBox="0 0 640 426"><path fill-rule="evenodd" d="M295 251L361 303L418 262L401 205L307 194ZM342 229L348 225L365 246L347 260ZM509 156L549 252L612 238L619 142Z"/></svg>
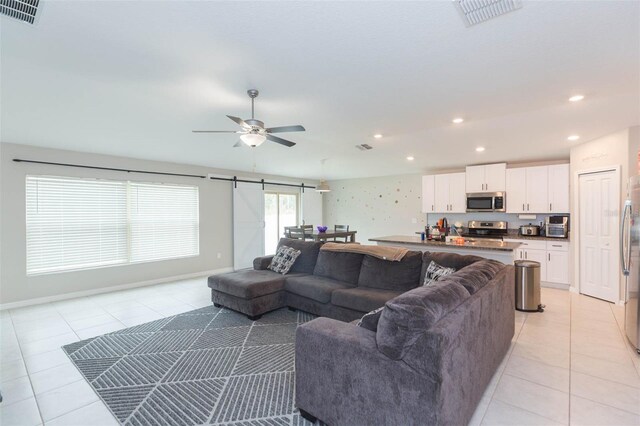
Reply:
<svg viewBox="0 0 640 426"><path fill-rule="evenodd" d="M451 2L56 1L0 24L2 142L337 179L568 158L640 124L636 1L470 28ZM294 148L191 133L235 130L254 87L256 118L307 128Z"/></svg>

